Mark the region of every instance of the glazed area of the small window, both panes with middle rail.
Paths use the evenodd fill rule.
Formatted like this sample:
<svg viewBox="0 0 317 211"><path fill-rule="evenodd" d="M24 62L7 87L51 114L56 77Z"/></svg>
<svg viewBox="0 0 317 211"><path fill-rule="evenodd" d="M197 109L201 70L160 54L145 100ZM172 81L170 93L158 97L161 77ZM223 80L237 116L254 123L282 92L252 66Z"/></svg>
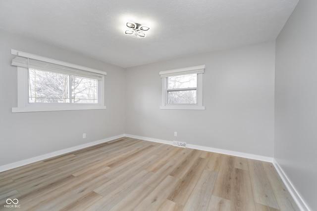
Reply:
<svg viewBox="0 0 317 211"><path fill-rule="evenodd" d="M166 77L166 104L197 104L197 74Z"/></svg>

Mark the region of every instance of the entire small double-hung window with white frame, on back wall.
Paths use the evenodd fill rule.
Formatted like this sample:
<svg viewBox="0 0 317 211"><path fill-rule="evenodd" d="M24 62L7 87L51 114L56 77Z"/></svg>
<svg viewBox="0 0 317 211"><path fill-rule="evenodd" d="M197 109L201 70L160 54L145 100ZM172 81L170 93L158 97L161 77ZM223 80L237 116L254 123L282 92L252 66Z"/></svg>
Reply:
<svg viewBox="0 0 317 211"><path fill-rule="evenodd" d="M204 110L202 83L205 65L159 72L162 78L160 109Z"/></svg>

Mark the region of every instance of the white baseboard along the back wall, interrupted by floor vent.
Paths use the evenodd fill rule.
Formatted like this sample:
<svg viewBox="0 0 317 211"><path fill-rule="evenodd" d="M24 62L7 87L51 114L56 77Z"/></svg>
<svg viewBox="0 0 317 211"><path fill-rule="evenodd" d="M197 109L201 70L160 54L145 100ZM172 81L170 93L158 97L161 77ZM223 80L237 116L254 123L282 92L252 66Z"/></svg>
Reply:
<svg viewBox="0 0 317 211"><path fill-rule="evenodd" d="M124 134L124 136L130 137L130 138L142 139L142 140L146 140L146 141L159 142L159 143L163 143L163 144L170 144L170 145L173 144L172 141L166 141L166 140L162 140L162 139L149 138L149 137L138 136L138 135ZM198 149L198 150L204 150L204 151L208 151L208 152L215 152L215 153L232 155L232 156L237 156L237 157L242 157L242 158L249 158L249 159L258 160L258 161L265 161L265 162L270 162L270 163L273 162L273 158L265 157L265 156L261 156L261 155L254 155L254 154L248 154L248 153L243 153L243 152L217 149L217 148L199 146L199 145L194 145L194 144L187 144L186 147L190 148L190 149Z"/></svg>

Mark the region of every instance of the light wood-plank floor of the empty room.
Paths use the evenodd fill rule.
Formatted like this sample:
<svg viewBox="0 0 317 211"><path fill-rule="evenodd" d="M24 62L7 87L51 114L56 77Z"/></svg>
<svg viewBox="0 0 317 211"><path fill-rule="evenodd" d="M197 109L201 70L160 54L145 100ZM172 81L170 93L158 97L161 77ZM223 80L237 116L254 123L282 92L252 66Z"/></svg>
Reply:
<svg viewBox="0 0 317 211"><path fill-rule="evenodd" d="M120 138L0 173L0 210L298 211L273 165Z"/></svg>

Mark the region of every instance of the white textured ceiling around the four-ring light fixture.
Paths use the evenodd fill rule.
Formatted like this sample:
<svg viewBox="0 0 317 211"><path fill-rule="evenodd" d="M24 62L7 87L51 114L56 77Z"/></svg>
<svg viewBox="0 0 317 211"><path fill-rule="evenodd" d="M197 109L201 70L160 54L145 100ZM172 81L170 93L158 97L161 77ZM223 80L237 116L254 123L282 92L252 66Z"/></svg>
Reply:
<svg viewBox="0 0 317 211"><path fill-rule="evenodd" d="M0 29L120 67L276 39L298 0L0 0ZM146 38L124 34L134 21Z"/></svg>

